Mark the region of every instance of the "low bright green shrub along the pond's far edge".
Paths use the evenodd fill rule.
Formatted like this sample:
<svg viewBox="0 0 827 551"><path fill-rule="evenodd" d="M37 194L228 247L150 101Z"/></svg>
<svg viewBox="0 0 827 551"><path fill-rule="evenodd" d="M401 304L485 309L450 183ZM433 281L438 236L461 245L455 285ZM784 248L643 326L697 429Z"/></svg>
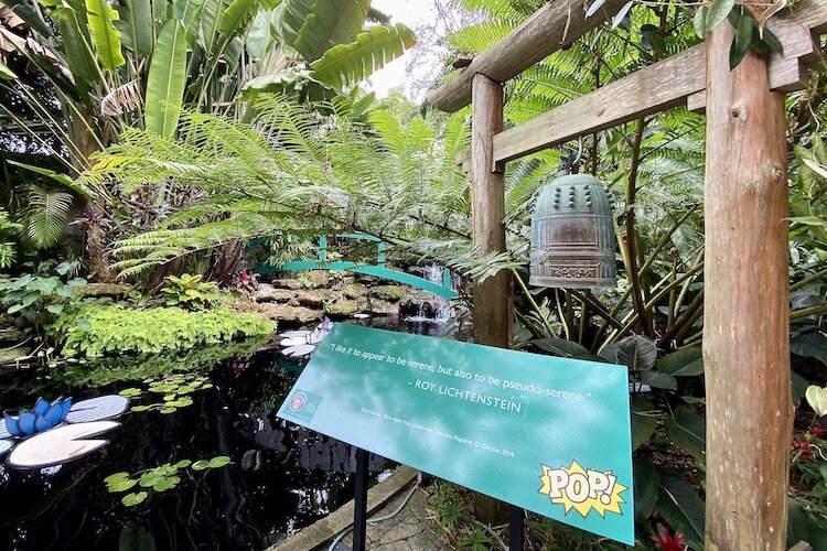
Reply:
<svg viewBox="0 0 827 551"><path fill-rule="evenodd" d="M180 307L128 310L84 304L61 316L63 355L101 357L187 350L243 338L266 336L275 324L228 307L187 312Z"/></svg>

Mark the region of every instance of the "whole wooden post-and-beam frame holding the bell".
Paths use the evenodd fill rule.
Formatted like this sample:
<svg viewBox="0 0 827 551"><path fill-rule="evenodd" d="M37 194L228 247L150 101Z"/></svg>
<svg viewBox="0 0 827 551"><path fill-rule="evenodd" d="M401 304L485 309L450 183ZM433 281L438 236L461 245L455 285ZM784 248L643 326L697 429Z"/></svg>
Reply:
<svg viewBox="0 0 827 551"><path fill-rule="evenodd" d="M503 130L502 83L624 3L606 0L588 19L582 0L546 3L427 101L444 111L472 104L472 145L458 161L470 174L474 242L484 252L505 250L505 162L678 105L706 110L706 545L783 549L793 414L784 94L803 88L818 60L827 0L773 18L783 55L749 52L730 72L733 30L724 23L704 44ZM479 343L508 345L509 285L502 276L476 289L485 298L474 303Z"/></svg>

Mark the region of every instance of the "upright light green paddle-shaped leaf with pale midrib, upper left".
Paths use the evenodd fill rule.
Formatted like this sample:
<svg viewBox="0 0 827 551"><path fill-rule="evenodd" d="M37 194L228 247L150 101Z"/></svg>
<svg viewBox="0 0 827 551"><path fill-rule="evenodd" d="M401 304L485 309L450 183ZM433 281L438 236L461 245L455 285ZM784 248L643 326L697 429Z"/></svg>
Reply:
<svg viewBox="0 0 827 551"><path fill-rule="evenodd" d="M147 130L165 138L175 133L186 85L186 31L170 20L161 30L147 80Z"/></svg>

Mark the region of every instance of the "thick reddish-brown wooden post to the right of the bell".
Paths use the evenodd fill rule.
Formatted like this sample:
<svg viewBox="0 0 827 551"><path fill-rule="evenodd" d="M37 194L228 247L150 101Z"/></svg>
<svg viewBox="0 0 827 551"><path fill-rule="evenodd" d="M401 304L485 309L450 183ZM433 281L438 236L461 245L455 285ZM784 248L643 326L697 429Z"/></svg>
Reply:
<svg viewBox="0 0 827 551"><path fill-rule="evenodd" d="M707 37L707 550L785 548L793 406L784 94Z"/></svg>

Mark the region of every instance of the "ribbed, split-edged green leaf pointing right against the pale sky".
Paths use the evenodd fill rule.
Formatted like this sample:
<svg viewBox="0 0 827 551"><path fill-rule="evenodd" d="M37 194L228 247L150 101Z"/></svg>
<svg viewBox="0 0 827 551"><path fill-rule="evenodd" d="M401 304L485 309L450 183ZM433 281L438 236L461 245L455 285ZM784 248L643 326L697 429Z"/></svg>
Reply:
<svg viewBox="0 0 827 551"><path fill-rule="evenodd" d="M410 30L401 23L373 26L359 33L356 42L340 44L311 64L313 77L334 88L367 78L374 71L399 57L416 44Z"/></svg>

